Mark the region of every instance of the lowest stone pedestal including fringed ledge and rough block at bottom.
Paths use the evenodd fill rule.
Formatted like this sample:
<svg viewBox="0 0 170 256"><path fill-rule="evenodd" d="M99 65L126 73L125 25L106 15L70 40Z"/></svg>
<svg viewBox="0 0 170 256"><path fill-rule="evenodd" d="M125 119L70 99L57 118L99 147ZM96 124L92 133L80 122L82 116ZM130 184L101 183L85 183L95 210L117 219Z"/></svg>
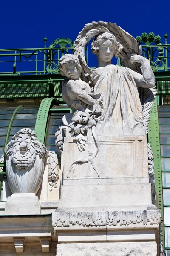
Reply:
<svg viewBox="0 0 170 256"><path fill-rule="evenodd" d="M159 210L53 212L57 256L156 256L160 221Z"/></svg>

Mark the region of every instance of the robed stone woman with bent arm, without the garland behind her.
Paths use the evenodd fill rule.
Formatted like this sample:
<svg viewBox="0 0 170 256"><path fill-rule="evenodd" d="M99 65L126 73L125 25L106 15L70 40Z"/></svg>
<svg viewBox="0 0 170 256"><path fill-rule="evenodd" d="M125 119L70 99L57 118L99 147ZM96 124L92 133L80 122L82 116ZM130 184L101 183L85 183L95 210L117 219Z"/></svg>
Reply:
<svg viewBox="0 0 170 256"><path fill-rule="evenodd" d="M130 62L141 64L143 74L127 67L111 65L123 46L112 33L104 32L95 38L91 49L97 55L98 65L91 74L94 93L103 97L103 113L99 117L99 133L115 135L146 134L142 122L142 106L138 87L153 88L155 77L149 61L137 54L130 55Z"/></svg>

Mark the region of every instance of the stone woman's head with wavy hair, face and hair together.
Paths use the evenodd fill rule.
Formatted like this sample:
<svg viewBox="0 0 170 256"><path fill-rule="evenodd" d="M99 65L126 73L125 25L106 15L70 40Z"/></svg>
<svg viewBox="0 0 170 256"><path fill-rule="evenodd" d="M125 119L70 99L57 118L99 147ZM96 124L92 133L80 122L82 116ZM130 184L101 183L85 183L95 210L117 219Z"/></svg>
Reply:
<svg viewBox="0 0 170 256"><path fill-rule="evenodd" d="M115 36L110 32L97 35L91 44L92 53L97 55L97 59L104 62L111 61L112 57L118 57L123 46L116 41Z"/></svg>

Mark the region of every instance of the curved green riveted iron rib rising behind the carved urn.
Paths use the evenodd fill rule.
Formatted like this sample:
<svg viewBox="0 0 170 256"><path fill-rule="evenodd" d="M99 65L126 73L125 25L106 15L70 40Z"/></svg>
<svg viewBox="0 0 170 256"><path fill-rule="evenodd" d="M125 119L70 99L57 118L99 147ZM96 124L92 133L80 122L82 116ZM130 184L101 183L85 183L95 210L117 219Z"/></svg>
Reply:
<svg viewBox="0 0 170 256"><path fill-rule="evenodd" d="M37 114L37 120L35 124L35 134L37 135L37 140L44 144L45 141L45 131L48 123L48 114L50 108L57 104L56 98L45 98L40 104L40 108Z"/></svg>

